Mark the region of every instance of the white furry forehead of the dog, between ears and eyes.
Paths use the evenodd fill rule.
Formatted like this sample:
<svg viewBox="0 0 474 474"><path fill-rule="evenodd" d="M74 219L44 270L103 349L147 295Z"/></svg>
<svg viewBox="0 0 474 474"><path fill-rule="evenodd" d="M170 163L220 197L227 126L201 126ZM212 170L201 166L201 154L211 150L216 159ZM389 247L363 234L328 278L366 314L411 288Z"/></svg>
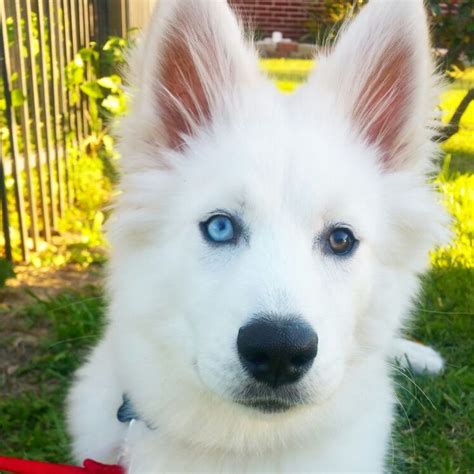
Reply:
<svg viewBox="0 0 474 474"><path fill-rule="evenodd" d="M253 114L215 126L190 148L184 172L204 185L209 205L245 203L258 213L286 209L308 217L349 212L373 199L368 193L374 188L367 186L377 181L372 150L348 138L342 125L334 133L324 121L291 116L282 104L260 104Z"/></svg>

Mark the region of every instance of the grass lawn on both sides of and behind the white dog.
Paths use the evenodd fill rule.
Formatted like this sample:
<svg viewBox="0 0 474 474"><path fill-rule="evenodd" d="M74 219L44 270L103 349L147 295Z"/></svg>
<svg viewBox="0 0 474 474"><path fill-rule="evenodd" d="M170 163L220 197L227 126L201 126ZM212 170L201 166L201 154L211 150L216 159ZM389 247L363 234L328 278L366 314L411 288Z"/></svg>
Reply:
<svg viewBox="0 0 474 474"><path fill-rule="evenodd" d="M288 64L291 74L296 68L296 74L304 75L311 67ZM278 67L272 74L278 74ZM283 78L286 90L294 87L288 85L294 81L290 76ZM445 119L459 96L455 84L442 97ZM450 158L436 179L454 216L455 238L451 246L432 254L432 270L423 278L412 328L415 338L441 351L447 369L435 378L409 371L397 375L399 418L390 459L395 472L474 472L474 104L463 127L444 145ZM0 307L0 324L12 318L3 311ZM13 376L0 378L1 454L70 461L64 395L72 372L100 333L103 314L100 289L89 287L37 299L14 315L16 334L35 332L41 337L12 369ZM2 336L0 357L2 348L9 350L16 343L13 336Z"/></svg>

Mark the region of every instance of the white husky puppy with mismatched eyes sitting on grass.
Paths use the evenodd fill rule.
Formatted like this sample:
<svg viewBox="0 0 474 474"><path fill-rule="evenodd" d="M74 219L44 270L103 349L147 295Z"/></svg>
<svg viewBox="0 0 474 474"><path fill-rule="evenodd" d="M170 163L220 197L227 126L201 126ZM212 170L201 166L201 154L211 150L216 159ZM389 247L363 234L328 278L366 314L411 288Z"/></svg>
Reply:
<svg viewBox="0 0 474 474"><path fill-rule="evenodd" d="M442 364L399 338L444 239L422 1L370 1L291 96L226 2L158 3L121 125L109 321L68 401L75 456L115 461L139 418L133 473L382 472L387 359Z"/></svg>

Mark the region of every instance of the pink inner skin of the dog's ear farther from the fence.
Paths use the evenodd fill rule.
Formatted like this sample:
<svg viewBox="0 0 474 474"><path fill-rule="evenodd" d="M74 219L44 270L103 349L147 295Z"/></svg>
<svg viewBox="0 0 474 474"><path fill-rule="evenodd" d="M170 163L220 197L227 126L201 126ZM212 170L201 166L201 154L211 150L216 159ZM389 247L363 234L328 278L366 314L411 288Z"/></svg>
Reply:
<svg viewBox="0 0 474 474"><path fill-rule="evenodd" d="M403 147L414 85L412 61L403 45L393 45L375 64L354 108L356 123L370 143L381 148L384 162Z"/></svg>

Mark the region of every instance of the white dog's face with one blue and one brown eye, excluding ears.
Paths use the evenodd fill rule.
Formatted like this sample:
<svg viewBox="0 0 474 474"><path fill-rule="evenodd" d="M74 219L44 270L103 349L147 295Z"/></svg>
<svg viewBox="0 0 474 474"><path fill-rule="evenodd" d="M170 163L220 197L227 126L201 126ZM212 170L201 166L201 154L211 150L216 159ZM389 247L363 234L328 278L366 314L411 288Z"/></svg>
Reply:
<svg viewBox="0 0 474 474"><path fill-rule="evenodd" d="M223 398L264 411L321 402L336 388L389 232L371 152L327 147L296 121L285 129L286 106L278 116L269 130L260 116L184 151L171 180L180 191L161 203L166 235L156 236L168 262L157 288L177 292L166 313L178 305L192 332L187 363Z"/></svg>

